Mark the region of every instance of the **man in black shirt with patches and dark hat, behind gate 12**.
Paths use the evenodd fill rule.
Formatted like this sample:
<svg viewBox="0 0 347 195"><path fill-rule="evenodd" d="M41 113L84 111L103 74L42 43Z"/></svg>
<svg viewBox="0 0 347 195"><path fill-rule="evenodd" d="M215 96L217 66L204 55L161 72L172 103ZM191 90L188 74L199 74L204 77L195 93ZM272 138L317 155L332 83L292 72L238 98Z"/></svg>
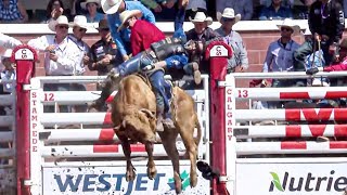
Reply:
<svg viewBox="0 0 347 195"><path fill-rule="evenodd" d="M116 43L112 40L107 21L101 20L97 29L101 39L91 46L88 67L90 70L97 70L99 76L104 76L121 63L121 57ZM97 88L101 90L99 84Z"/></svg>

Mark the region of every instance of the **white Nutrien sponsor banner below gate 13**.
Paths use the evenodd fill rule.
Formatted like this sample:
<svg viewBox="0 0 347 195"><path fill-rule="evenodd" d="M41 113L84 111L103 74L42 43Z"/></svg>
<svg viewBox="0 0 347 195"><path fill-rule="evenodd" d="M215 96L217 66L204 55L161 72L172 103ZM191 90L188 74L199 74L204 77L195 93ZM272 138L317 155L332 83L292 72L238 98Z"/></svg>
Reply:
<svg viewBox="0 0 347 195"><path fill-rule="evenodd" d="M237 164L237 195L342 195L345 164Z"/></svg>

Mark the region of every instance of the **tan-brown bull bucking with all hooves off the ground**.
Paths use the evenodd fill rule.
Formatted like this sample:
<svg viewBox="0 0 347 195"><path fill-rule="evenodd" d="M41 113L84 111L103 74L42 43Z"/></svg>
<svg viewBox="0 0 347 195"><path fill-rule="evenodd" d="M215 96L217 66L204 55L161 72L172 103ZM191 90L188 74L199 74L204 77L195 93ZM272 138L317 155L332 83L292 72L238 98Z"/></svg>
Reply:
<svg viewBox="0 0 347 195"><path fill-rule="evenodd" d="M147 177L154 179L157 172L153 158L153 144L156 133L155 95L150 84L140 76L127 76L119 84L118 80L118 78L111 78L106 81L106 84L112 84L113 87L118 86L118 92L112 103L112 120L127 159L126 179L127 181L133 181L136 178L134 168L130 159L130 141L141 142L145 145L149 155ZM197 114L194 110L193 99L177 87L172 89L172 92L171 110L176 129L167 129L167 127L164 127L164 132L158 132L158 134L172 162L176 192L181 193L182 183L176 139L178 134L180 134L187 148L187 154L191 162L190 184L194 187L197 183L196 155L197 145L201 140L201 126ZM193 136L195 127L197 128L196 139Z"/></svg>

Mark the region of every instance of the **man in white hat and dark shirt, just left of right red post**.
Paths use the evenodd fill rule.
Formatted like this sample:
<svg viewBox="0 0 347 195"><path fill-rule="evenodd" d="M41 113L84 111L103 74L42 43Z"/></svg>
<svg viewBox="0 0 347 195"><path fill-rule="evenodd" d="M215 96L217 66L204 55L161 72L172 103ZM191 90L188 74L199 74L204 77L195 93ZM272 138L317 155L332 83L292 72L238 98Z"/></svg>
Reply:
<svg viewBox="0 0 347 195"><path fill-rule="evenodd" d="M193 20L190 18L190 21L194 24L194 28L185 34L187 40L205 42L217 37L217 34L208 27L213 24L213 18L206 17L204 12L197 12L195 17ZM198 55L193 55L191 63L185 66L184 70L188 75L192 75L191 69L193 68L195 70L197 68L196 66L200 66L202 72L209 73L208 63L202 61L202 57Z"/></svg>

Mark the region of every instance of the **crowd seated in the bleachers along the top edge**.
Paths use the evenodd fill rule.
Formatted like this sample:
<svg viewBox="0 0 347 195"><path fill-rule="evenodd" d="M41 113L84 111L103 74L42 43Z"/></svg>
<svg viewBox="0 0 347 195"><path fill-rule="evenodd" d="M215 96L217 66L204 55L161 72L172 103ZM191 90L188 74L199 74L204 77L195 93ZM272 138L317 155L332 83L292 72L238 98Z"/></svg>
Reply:
<svg viewBox="0 0 347 195"><path fill-rule="evenodd" d="M132 1L132 0L129 0ZM347 10L347 1L338 0ZM174 21L177 0L140 0L150 9L158 22ZM204 12L214 21L219 20L224 8L233 8L243 21L250 20L306 20L308 8L314 0L190 0L185 20L196 12ZM29 5L43 3L46 10ZM75 15L85 15L88 22L99 22L105 16L100 8L100 0L2 0L0 2L0 23L47 23L53 12L63 12L68 21ZM26 8L28 6L28 8ZM38 5L39 6L39 5Z"/></svg>

